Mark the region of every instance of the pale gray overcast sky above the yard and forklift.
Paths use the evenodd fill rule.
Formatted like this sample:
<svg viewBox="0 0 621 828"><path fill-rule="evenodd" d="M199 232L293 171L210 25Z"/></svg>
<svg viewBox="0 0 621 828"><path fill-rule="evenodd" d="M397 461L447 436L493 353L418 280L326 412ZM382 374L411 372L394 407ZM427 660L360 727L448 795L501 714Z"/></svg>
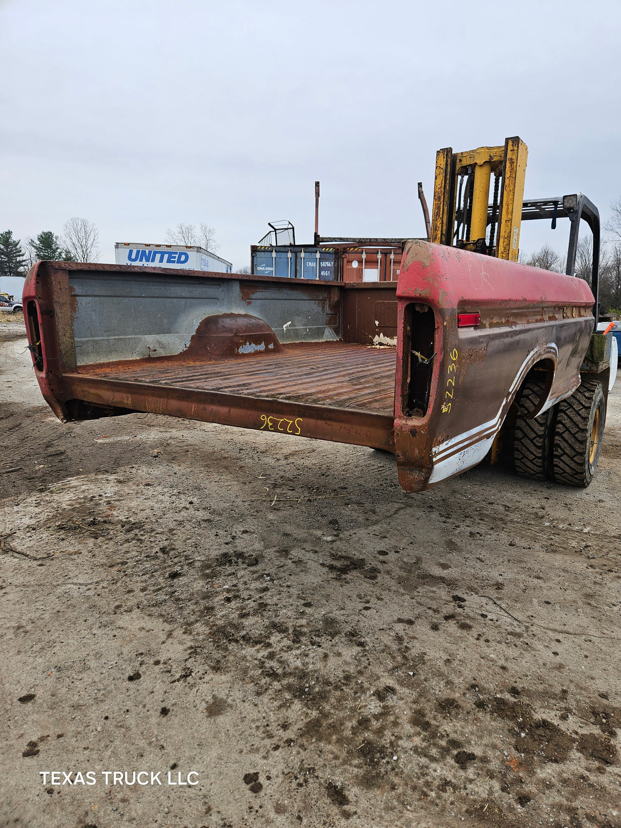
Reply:
<svg viewBox="0 0 621 828"><path fill-rule="evenodd" d="M0 0L0 229L114 242L267 221L425 235L436 150L529 148L525 195L621 195L621 3ZM564 223L568 224L568 222ZM565 229L522 226L522 250ZM561 227L561 224L560 224Z"/></svg>

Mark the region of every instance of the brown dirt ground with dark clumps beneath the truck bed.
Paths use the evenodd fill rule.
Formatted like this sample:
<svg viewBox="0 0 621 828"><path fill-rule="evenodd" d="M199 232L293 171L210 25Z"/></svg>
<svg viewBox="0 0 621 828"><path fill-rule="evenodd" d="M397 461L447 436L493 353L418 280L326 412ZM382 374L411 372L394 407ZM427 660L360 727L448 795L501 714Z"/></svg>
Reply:
<svg viewBox="0 0 621 828"><path fill-rule="evenodd" d="M0 339L0 825L621 826L621 383L590 489L406 494L365 448L63 425Z"/></svg>

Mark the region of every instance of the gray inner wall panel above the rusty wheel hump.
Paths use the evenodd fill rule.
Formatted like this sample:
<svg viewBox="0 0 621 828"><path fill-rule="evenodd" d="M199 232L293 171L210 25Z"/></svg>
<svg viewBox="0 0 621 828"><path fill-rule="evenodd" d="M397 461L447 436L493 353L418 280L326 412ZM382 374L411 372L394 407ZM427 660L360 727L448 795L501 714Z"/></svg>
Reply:
<svg viewBox="0 0 621 828"><path fill-rule="evenodd" d="M179 354L200 321L220 313L259 316L280 342L340 333L327 324L330 288L315 297L299 283L267 285L244 301L236 279L86 271L70 272L70 287L78 365Z"/></svg>

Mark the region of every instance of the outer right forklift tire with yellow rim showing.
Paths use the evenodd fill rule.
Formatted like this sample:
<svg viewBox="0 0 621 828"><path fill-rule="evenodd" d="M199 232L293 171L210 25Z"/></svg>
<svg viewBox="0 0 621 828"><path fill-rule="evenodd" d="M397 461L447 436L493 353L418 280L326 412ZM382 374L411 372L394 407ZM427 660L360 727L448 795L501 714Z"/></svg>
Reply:
<svg viewBox="0 0 621 828"><path fill-rule="evenodd" d="M602 383L585 380L557 408L552 450L555 479L586 488L595 476L606 421Z"/></svg>

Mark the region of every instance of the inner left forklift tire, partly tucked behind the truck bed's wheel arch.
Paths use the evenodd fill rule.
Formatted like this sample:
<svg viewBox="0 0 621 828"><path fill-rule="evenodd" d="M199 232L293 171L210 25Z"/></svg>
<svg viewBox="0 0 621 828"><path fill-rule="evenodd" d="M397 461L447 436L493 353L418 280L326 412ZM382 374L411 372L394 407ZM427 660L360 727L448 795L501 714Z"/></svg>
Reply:
<svg viewBox="0 0 621 828"><path fill-rule="evenodd" d="M515 470L533 480L545 480L548 476L551 409L532 420L526 419L539 404L544 386L542 379L529 379L522 385L513 436Z"/></svg>

